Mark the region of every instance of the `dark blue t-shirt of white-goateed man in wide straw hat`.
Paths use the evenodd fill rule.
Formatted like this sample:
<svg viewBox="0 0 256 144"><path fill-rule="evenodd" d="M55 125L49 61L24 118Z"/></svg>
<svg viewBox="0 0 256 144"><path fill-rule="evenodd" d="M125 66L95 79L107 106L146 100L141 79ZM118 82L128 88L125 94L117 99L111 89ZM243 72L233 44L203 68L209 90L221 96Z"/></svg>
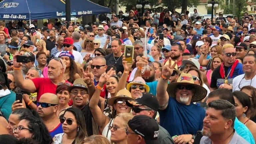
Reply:
<svg viewBox="0 0 256 144"><path fill-rule="evenodd" d="M182 134L195 135L203 128L205 110L193 103L184 105L169 97L167 108L158 112L160 125L169 132L171 137Z"/></svg>

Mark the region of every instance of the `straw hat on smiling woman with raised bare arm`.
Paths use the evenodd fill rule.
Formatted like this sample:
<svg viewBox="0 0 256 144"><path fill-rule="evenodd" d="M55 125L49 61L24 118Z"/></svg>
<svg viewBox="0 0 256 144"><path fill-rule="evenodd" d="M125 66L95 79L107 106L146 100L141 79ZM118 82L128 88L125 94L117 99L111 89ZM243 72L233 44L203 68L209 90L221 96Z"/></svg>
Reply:
<svg viewBox="0 0 256 144"><path fill-rule="evenodd" d="M121 89L120 91L118 91L115 97L111 97L108 100L108 104L113 106L115 100L117 100L117 99L134 100L134 98L132 98L131 93L127 89Z"/></svg>

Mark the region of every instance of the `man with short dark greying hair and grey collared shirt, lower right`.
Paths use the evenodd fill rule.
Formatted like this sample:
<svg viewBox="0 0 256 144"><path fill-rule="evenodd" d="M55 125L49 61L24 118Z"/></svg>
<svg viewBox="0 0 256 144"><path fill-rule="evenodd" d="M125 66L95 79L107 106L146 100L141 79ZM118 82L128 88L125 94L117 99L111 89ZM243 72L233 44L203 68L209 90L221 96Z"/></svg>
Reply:
<svg viewBox="0 0 256 144"><path fill-rule="evenodd" d="M215 100L208 104L204 118L203 137L200 144L249 144L235 129L235 106L227 100Z"/></svg>

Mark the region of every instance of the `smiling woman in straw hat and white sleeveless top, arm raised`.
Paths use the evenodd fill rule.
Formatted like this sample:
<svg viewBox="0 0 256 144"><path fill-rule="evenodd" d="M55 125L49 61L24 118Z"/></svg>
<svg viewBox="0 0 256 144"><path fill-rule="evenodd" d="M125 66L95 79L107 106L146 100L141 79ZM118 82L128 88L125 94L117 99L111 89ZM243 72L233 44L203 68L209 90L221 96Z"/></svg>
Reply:
<svg viewBox="0 0 256 144"><path fill-rule="evenodd" d="M113 107L114 114L113 117L109 117L109 113L103 113L101 108L98 106L98 102L100 99L100 92L102 91L102 87L106 82L111 80L111 75L113 75L114 71L112 68L107 72L103 73L99 79L99 83L96 86L95 92L92 95L92 98L89 102L89 107L92 112L93 118L96 124L99 127L99 130L102 132L102 135L106 136L110 140L111 131L109 130L109 126L113 123L113 118L116 114L119 113L129 113L131 112L131 107L128 107L126 104L127 100L134 100L131 96L131 93L126 90L122 89L117 92L116 96L113 95L110 99L108 99L108 104ZM112 91L112 89L109 89ZM113 90L114 91L114 90ZM112 93L112 92L110 92ZM125 132L125 131L124 131Z"/></svg>

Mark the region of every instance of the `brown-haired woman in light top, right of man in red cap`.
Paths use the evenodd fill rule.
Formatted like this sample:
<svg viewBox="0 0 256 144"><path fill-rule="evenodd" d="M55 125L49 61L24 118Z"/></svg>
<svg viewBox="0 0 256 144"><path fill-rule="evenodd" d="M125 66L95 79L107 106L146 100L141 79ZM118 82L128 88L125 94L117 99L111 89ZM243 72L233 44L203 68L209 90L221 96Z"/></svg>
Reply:
<svg viewBox="0 0 256 144"><path fill-rule="evenodd" d="M87 57L94 57L94 44L93 40L87 39L84 41L84 49L80 52L82 57L84 58L85 56Z"/></svg>

